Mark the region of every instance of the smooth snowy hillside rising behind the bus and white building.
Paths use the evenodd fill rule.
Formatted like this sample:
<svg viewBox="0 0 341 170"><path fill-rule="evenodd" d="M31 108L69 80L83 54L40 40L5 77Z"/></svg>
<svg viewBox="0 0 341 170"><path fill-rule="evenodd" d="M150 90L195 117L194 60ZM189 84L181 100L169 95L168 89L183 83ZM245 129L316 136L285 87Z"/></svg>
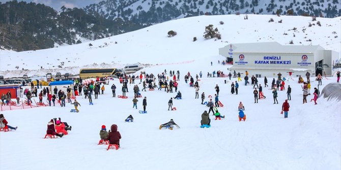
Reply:
<svg viewBox="0 0 341 170"><path fill-rule="evenodd" d="M244 17L190 17L78 45L24 52L1 50L0 75L6 78L56 72L77 74L82 67L124 67L136 62L201 64L210 62L209 57L219 56L218 48L230 43L276 41L289 45L293 40L294 45L321 45L341 51L341 17L317 18L317 21L302 16L248 15L247 20ZM274 22L268 22L270 18ZM282 23L278 23L280 20ZM219 24L220 21L224 24ZM321 26L317 25L318 21ZM309 23L314 25L309 27ZM203 38L205 26L209 24L218 28L221 40ZM178 35L168 38L169 30ZM193 42L193 37L197 41Z"/></svg>

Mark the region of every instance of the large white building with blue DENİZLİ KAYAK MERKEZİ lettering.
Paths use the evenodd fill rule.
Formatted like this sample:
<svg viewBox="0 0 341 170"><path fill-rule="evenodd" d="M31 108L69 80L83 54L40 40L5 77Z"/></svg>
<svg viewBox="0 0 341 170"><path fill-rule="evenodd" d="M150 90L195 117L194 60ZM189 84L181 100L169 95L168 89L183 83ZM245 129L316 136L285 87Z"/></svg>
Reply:
<svg viewBox="0 0 341 170"><path fill-rule="evenodd" d="M338 53L325 50L319 45L280 45L277 42L230 44L219 48L219 54L226 60L233 61L230 71L233 73L249 72L256 77L283 77L287 72L294 76L305 77L309 72L314 75L332 75L336 72L333 63L338 60Z"/></svg>

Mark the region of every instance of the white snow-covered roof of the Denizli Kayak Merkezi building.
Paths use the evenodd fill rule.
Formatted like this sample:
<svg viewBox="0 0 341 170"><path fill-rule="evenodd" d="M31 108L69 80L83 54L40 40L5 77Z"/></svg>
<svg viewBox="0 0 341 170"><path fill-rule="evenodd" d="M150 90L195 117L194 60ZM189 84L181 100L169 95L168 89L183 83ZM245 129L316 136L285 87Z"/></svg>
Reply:
<svg viewBox="0 0 341 170"><path fill-rule="evenodd" d="M324 50L320 45L281 45L277 42L232 44L233 53L314 53ZM223 48L230 48L230 45Z"/></svg>

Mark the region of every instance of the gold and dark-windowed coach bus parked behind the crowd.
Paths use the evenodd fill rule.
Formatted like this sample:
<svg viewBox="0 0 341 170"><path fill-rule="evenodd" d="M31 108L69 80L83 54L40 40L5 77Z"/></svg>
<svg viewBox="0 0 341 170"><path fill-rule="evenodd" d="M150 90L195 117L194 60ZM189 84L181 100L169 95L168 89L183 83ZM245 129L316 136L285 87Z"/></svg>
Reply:
<svg viewBox="0 0 341 170"><path fill-rule="evenodd" d="M80 69L79 78L88 79L96 77L120 77L122 71L116 68L109 69Z"/></svg>

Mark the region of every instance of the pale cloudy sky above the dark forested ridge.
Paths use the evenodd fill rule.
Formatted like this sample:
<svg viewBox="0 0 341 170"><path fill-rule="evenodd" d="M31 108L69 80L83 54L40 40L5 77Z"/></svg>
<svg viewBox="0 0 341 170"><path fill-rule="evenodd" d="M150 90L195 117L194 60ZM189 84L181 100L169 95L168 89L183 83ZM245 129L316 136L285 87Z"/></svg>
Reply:
<svg viewBox="0 0 341 170"><path fill-rule="evenodd" d="M0 0L2 3L6 3L9 0ZM18 0L20 2L21 0ZM83 8L87 5L98 3L101 0L23 0L24 2L30 3L34 2L36 4L44 4L46 6L52 7L57 11L60 11L62 6L66 8Z"/></svg>

